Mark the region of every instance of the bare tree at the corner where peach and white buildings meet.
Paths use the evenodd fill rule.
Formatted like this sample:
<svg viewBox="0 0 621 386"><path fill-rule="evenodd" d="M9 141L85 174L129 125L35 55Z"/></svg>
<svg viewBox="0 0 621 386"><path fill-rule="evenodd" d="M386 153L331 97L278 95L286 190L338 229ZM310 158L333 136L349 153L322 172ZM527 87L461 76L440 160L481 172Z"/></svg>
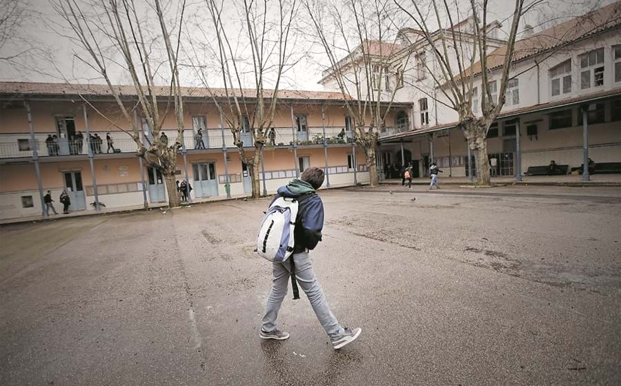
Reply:
<svg viewBox="0 0 621 386"><path fill-rule="evenodd" d="M398 57L406 65L411 54L401 52L395 43L391 4L388 0L304 1L311 33L327 58L325 73L336 83L353 119L355 141L364 150L371 186L379 184L375 162L379 130L403 81L393 61Z"/></svg>

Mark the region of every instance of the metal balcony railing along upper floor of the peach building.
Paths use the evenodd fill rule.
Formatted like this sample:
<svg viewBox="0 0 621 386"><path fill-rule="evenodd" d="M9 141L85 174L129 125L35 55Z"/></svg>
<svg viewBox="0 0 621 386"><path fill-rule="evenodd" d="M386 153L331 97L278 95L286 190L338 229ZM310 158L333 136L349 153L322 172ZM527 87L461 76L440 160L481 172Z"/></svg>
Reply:
<svg viewBox="0 0 621 386"><path fill-rule="evenodd" d="M164 132L166 132L168 136L168 141L175 141L176 130L164 130ZM324 144L324 129L320 127L311 127L306 131L298 131L297 128L295 130L291 128L275 128L274 132L275 134L270 135L270 130L268 130L267 147L289 147L293 146L293 143L297 143L298 146ZM353 142L352 132L345 131L344 128L341 127L326 127L325 133L326 143L328 144L346 144ZM105 136L100 136L99 139L91 139L91 141L88 141L86 138L83 140L66 138L50 140L49 138L46 139L46 135L47 134L37 134L34 144L32 140L30 140L28 134L24 134L19 139L14 138L14 134L11 134L11 139L2 139L0 135L0 159L30 158L32 157L32 150L35 144L37 145L37 154L41 157L86 155L88 154L88 147L90 147L93 154L132 153L137 150L134 140L126 136L126 134L119 132L112 133L113 137L110 144L108 144ZM28 139L26 140L24 137L28 137ZM143 141L148 144L148 136L146 136ZM205 130L200 138L195 136L191 129L184 132L184 144L186 145L186 149L190 152L203 149L221 149L223 145L222 142L223 138L220 130ZM245 148L252 147L252 133L242 133L242 142ZM225 130L224 132L224 144L226 148L235 148L233 134L230 130Z"/></svg>

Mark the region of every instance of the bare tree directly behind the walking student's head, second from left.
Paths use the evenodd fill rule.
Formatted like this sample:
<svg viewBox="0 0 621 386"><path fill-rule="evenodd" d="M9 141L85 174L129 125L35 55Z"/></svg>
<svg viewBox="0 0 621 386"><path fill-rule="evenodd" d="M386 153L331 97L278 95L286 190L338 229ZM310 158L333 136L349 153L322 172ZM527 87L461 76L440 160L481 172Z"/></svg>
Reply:
<svg viewBox="0 0 621 386"><path fill-rule="evenodd" d="M205 30L201 23L195 25L204 41L192 39L188 34L192 42L190 57L199 79L233 134L239 159L251 177L252 196L258 198L261 196L259 167L268 129L274 120L282 77L295 63L291 27L297 13L297 0L204 1L213 30ZM241 20L237 25L230 20L231 8ZM211 57L207 61L212 63L199 65L199 52L207 52ZM210 78L210 70L215 70L218 81ZM213 88L213 83L221 88ZM249 144L244 143L244 132L252 134L252 152L246 153Z"/></svg>

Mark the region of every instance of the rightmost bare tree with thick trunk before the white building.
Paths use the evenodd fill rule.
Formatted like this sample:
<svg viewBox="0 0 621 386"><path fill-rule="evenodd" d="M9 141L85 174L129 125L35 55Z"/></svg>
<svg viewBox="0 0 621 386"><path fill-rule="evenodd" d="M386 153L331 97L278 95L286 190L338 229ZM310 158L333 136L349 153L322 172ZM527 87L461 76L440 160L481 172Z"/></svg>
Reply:
<svg viewBox="0 0 621 386"><path fill-rule="evenodd" d="M471 14L471 23L457 23L455 14L460 14L460 1L431 0L424 4L411 1L410 6L403 6L395 0L397 6L414 21L423 39L435 59L436 69L427 66L428 73L440 90L447 104L457 112L459 125L473 150L477 167L477 183L489 185L489 167L487 161L486 136L489 127L495 121L505 102L505 91L509 80L509 70L515 48L515 37L520 18L539 1L535 0L526 8L524 0L515 0L511 14L511 28L502 53L502 77L497 88L497 101L493 98L489 86L491 70L496 65L489 65L489 28L488 0L479 3L469 0L466 12ZM449 27L443 27L448 21ZM437 30L433 26L437 26ZM479 61L475 66L475 63ZM435 71L434 71L435 70ZM436 73L437 72L437 73ZM482 116L473 113L473 88L475 76L480 74Z"/></svg>

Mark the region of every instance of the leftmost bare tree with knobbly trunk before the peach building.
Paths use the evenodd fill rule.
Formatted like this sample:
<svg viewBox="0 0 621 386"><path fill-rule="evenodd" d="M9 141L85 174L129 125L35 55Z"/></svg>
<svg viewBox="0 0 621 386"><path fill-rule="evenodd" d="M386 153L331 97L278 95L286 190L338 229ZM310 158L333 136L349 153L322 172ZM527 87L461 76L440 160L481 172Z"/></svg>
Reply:
<svg viewBox="0 0 621 386"><path fill-rule="evenodd" d="M83 101L131 136L137 145L137 156L164 176L169 205L178 206L175 171L177 152L184 141L184 104L177 57L186 1L179 2L177 8L170 3L164 8L160 0L144 0L138 4L135 0L53 0L52 6L66 23L69 34L65 36L81 48L75 51L75 57L106 82L125 125L112 121L85 98ZM146 19L139 17L145 14L148 15ZM168 14L172 14L172 28ZM152 29L149 16L155 18ZM114 85L112 72L126 74L132 86ZM157 79L167 79L168 85L158 86ZM136 97L128 99L127 94ZM150 136L141 137L141 123L135 119L134 110L141 112ZM168 114L175 115L177 136L174 141L161 135Z"/></svg>

